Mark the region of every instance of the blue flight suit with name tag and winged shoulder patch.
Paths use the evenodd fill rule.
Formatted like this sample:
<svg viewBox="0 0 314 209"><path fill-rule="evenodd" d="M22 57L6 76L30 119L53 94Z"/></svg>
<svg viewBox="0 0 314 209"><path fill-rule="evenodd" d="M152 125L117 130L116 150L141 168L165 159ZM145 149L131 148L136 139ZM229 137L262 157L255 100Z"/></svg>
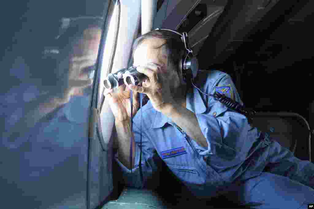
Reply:
<svg viewBox="0 0 314 209"><path fill-rule="evenodd" d="M221 71L199 71L194 84L203 92L224 93L243 105L231 77ZM229 87L229 88L228 88ZM186 107L196 114L208 149L190 138L150 101L143 106L142 169L144 184L155 172L158 154L169 169L198 198L226 195L256 208L307 208L314 202L314 165L299 160L225 105L189 89ZM117 159L128 186L143 188L139 173L141 111L133 118L135 168ZM268 171L265 172L265 168ZM302 206L301 206L302 205ZM288 207L285 207L288 206Z"/></svg>

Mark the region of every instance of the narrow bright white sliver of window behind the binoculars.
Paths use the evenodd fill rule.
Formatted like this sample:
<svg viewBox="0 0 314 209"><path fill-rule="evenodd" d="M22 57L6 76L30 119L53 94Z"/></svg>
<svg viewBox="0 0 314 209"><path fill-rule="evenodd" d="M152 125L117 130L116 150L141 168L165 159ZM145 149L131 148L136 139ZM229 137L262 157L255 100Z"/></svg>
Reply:
<svg viewBox="0 0 314 209"><path fill-rule="evenodd" d="M102 59L102 65L101 65L101 73L100 73L100 86L99 86L99 92L103 92L105 86L104 86L104 80L106 76L111 73L112 70L112 64L114 55L116 53L115 47L116 47L116 38L118 36L118 30L119 30L119 2L117 1L117 4L115 5L110 24L109 24L109 30L106 37L105 42L105 49L104 49L104 55ZM100 97L98 98L98 102L100 102L102 95L99 94Z"/></svg>

